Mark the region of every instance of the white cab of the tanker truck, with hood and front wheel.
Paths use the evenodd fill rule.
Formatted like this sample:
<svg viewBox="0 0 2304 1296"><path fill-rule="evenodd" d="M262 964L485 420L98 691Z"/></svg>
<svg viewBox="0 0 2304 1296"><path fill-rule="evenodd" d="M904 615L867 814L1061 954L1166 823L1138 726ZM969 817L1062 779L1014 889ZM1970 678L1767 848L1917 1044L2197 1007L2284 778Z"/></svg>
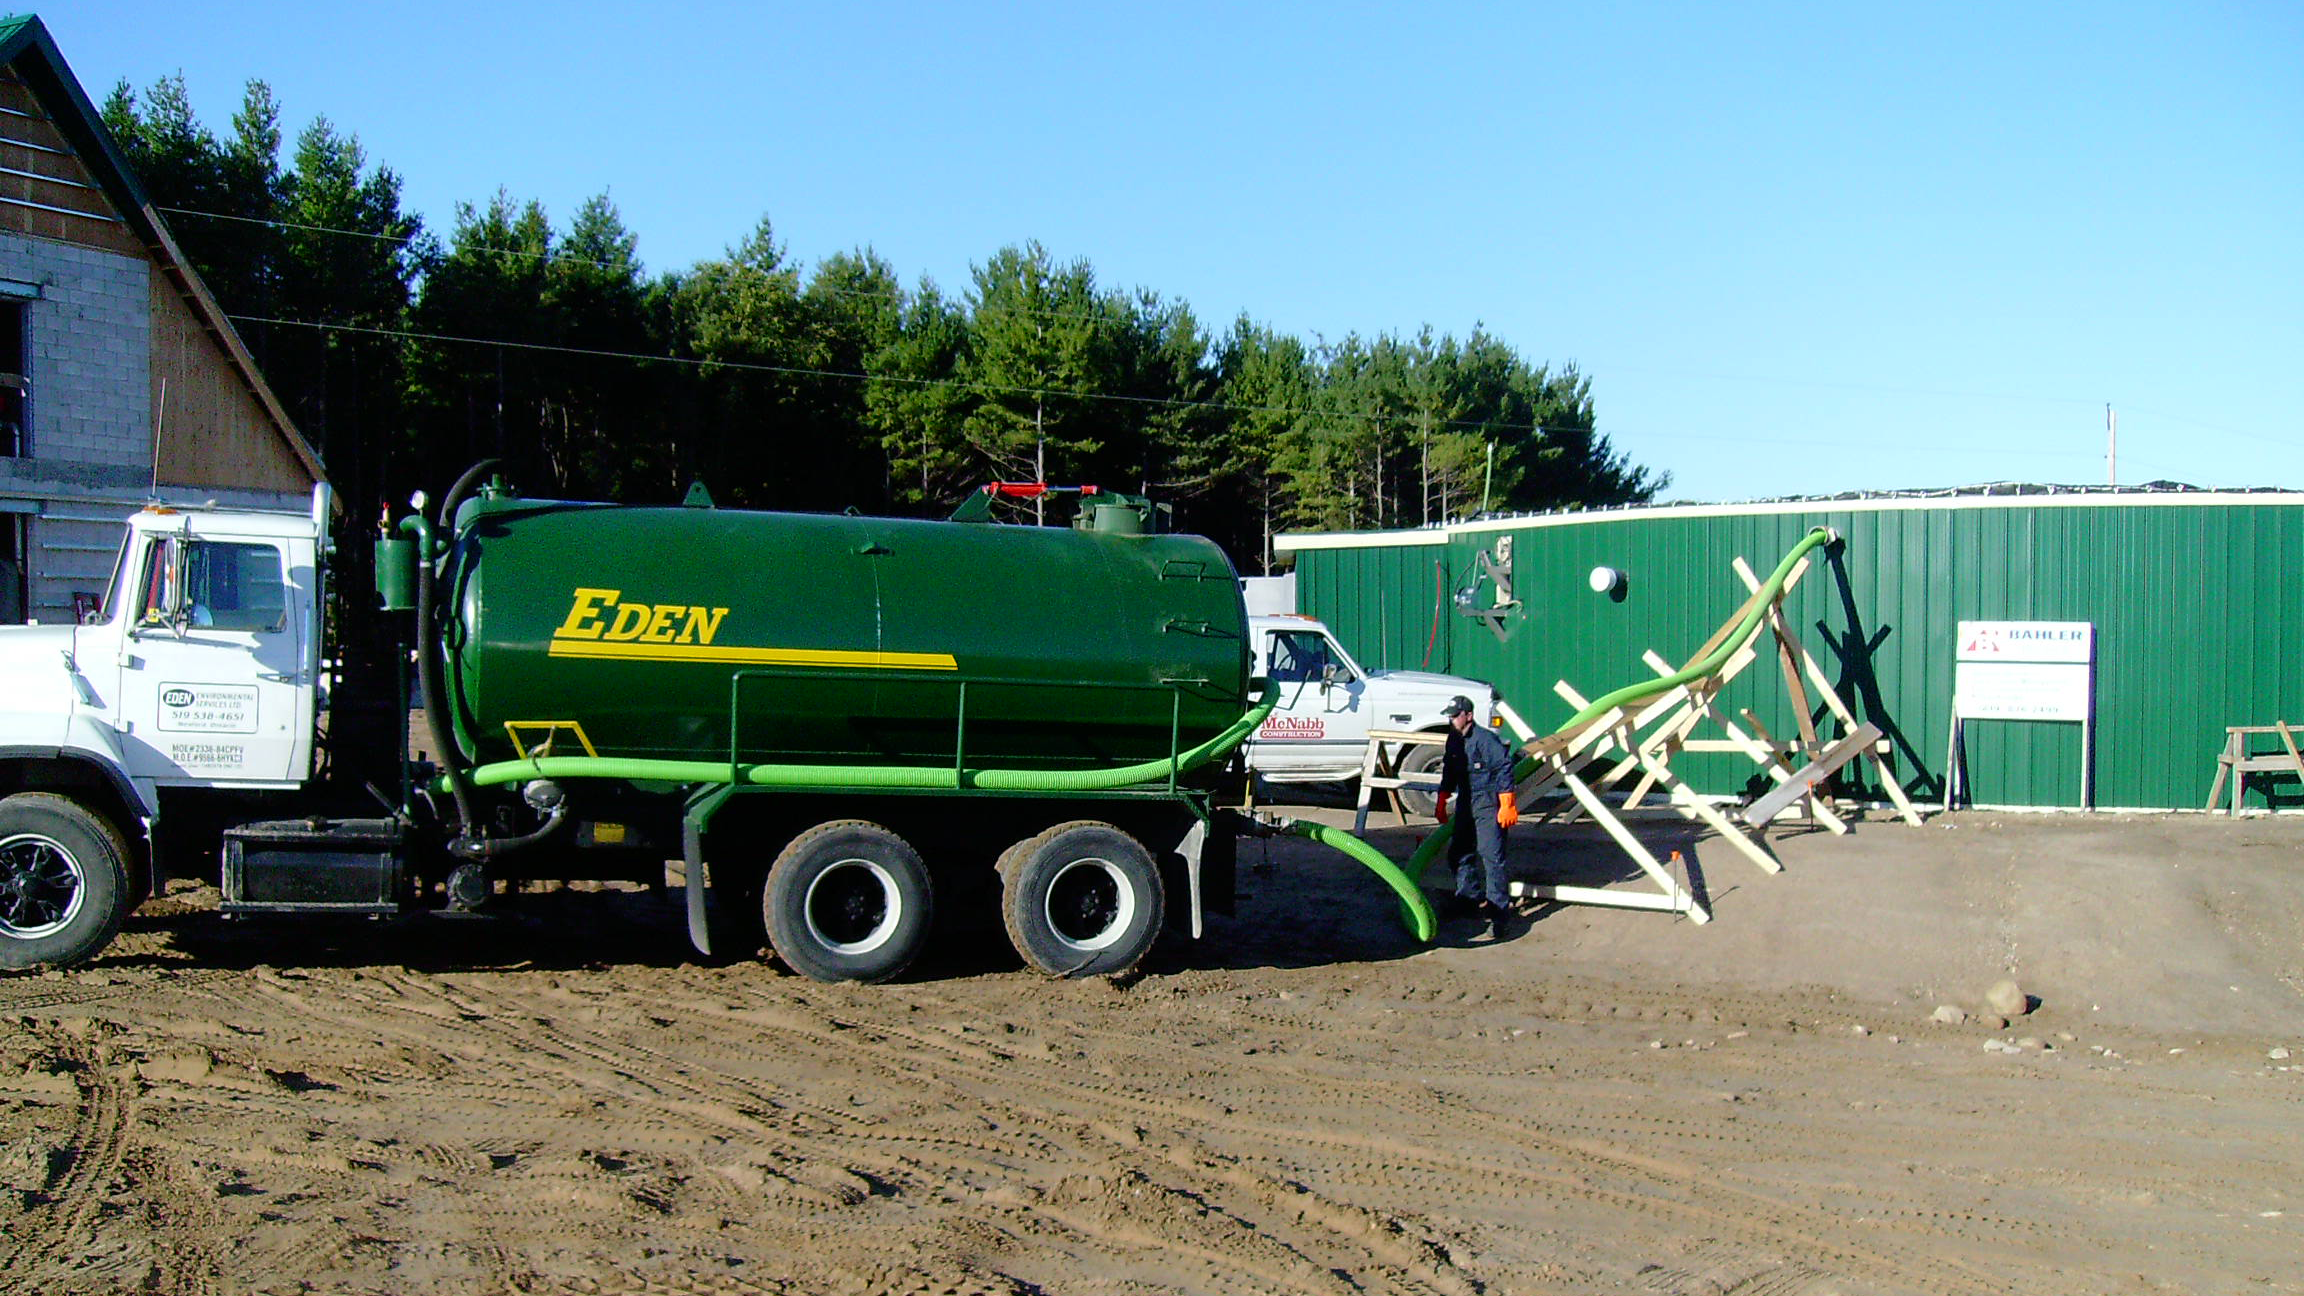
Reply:
<svg viewBox="0 0 2304 1296"><path fill-rule="evenodd" d="M101 609L0 627L0 966L111 939L175 789L311 779L329 505L147 505Z"/></svg>

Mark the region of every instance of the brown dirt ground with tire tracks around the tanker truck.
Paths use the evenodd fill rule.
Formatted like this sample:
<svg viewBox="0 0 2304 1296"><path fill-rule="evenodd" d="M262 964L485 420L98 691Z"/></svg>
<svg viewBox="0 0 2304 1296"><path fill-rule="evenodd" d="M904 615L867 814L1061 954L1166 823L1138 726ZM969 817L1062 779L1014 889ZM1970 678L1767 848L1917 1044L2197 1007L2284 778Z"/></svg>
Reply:
<svg viewBox="0 0 2304 1296"><path fill-rule="evenodd" d="M965 906L827 987L700 966L677 890L316 927L180 886L0 978L0 1289L2304 1291L2304 819L1875 819L1774 876L1654 832L1710 925L1422 948L1281 839L1124 985ZM1931 1022L2002 978L2030 1015Z"/></svg>

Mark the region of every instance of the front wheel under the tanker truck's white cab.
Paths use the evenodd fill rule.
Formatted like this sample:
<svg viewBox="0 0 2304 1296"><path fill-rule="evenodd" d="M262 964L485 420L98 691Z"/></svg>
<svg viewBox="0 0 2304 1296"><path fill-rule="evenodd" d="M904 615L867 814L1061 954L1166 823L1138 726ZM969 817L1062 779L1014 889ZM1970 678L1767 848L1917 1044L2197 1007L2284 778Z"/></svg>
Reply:
<svg viewBox="0 0 2304 1296"><path fill-rule="evenodd" d="M76 800L0 800L0 969L76 964L129 913L129 844Z"/></svg>

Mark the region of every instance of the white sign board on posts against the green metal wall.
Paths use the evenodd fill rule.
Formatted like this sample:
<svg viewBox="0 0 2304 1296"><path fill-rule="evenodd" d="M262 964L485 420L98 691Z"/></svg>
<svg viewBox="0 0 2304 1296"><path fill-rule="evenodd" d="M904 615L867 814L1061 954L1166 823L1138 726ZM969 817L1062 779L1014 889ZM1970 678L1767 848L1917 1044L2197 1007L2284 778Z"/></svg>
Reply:
<svg viewBox="0 0 2304 1296"><path fill-rule="evenodd" d="M1963 620L1951 657L1951 745L1945 809L1961 782L1961 722L2069 719L2081 724L2081 805L2094 805L2092 770L2097 627L2087 620Z"/></svg>

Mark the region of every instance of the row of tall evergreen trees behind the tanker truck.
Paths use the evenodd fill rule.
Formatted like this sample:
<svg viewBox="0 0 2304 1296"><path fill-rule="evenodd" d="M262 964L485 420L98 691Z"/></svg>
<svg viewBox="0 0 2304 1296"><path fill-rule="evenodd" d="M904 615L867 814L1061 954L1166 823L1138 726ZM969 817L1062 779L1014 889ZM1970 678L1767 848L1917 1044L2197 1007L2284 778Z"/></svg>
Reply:
<svg viewBox="0 0 2304 1296"><path fill-rule="evenodd" d="M498 191L431 231L355 134L293 145L253 81L228 131L182 78L104 120L362 521L500 457L530 496L945 517L993 480L1173 505L1244 574L1279 530L1652 498L1592 383L1475 327L1304 341L1002 247L947 291L871 249L797 265L763 217L650 274L606 196Z"/></svg>

